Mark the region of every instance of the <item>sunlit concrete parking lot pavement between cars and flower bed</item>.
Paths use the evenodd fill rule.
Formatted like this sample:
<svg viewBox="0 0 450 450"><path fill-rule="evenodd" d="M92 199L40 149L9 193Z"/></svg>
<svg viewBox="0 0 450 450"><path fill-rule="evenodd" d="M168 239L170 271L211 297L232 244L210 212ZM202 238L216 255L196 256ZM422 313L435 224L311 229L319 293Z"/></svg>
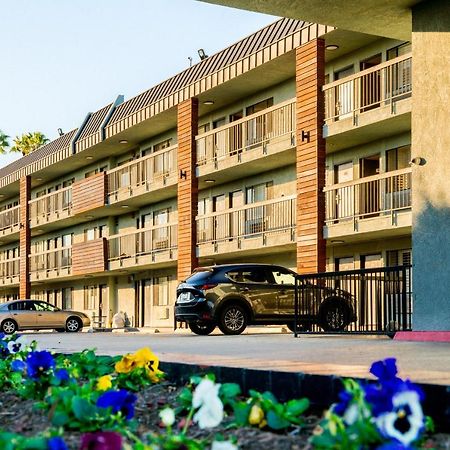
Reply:
<svg viewBox="0 0 450 450"><path fill-rule="evenodd" d="M395 357L400 376L450 385L450 344L397 342L382 336L326 336L262 333L197 336L135 333L29 333L41 349L75 352L96 348L121 355L148 346L162 361L367 377L375 360Z"/></svg>

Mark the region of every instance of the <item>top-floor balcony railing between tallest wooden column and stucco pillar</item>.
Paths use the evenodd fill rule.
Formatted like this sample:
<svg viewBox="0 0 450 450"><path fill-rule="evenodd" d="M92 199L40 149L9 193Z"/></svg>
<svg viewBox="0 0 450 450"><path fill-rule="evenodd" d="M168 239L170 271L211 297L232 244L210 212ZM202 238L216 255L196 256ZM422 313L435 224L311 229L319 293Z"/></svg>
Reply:
<svg viewBox="0 0 450 450"><path fill-rule="evenodd" d="M325 122L332 123L411 96L411 55L399 56L323 87Z"/></svg>

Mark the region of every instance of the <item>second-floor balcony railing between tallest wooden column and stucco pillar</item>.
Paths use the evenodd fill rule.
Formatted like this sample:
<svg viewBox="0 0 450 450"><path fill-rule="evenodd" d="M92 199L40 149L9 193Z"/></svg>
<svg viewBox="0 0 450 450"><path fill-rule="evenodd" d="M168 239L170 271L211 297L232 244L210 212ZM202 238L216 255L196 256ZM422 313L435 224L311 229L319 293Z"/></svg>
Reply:
<svg viewBox="0 0 450 450"><path fill-rule="evenodd" d="M357 221L411 208L411 169L401 169L324 189L326 224Z"/></svg>

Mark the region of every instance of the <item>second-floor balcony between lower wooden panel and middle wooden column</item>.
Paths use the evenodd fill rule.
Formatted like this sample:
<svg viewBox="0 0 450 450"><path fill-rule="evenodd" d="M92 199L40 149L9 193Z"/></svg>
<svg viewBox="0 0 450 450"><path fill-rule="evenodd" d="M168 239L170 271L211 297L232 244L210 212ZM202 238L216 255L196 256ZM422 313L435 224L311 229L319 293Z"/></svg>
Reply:
<svg viewBox="0 0 450 450"><path fill-rule="evenodd" d="M109 270L176 261L177 247L177 224L111 236Z"/></svg>

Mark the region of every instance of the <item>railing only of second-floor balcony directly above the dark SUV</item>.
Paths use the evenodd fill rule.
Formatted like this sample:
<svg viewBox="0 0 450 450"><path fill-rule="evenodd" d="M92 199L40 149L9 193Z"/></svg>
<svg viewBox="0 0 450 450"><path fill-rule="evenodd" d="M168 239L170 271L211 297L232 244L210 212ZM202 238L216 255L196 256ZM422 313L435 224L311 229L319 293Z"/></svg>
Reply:
<svg viewBox="0 0 450 450"><path fill-rule="evenodd" d="M295 197L269 200L197 218L197 244L295 233Z"/></svg>

